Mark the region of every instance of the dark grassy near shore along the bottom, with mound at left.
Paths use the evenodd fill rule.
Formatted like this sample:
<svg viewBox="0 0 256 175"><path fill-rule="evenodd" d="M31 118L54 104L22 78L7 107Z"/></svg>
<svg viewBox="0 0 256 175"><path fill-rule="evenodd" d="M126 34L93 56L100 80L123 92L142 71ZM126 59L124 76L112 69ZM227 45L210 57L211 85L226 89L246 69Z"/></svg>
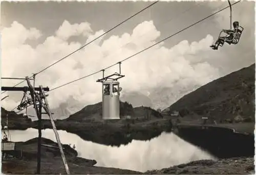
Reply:
<svg viewBox="0 0 256 175"><path fill-rule="evenodd" d="M42 143L57 145L49 139L42 138ZM37 138L19 143L19 148L24 149L23 158L19 160L8 160L2 162L3 173L33 174L36 171L36 148ZM174 165L158 170L147 170L145 172L129 169L95 166L97 160L89 160L77 157L77 151L69 145L63 145L65 155L72 174L195 174L195 173L254 173L254 158L238 157L217 160L198 160ZM45 148L41 158L41 173L44 174L66 174L58 148ZM28 152L30 154L28 154Z"/></svg>

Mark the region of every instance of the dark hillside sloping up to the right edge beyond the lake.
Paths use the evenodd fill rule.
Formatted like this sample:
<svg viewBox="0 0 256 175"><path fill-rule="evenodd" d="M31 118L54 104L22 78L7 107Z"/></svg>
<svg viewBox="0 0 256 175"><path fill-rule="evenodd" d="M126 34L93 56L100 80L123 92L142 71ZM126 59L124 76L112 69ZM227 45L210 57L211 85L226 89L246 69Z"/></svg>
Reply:
<svg viewBox="0 0 256 175"><path fill-rule="evenodd" d="M181 117L211 121L254 121L255 63L201 86L169 107Z"/></svg>

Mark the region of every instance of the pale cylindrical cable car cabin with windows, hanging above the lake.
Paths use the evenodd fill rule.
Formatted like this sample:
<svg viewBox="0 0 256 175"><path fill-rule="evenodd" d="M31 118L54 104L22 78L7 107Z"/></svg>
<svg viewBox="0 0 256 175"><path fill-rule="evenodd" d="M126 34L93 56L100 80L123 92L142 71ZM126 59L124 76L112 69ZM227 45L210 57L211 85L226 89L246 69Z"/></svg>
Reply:
<svg viewBox="0 0 256 175"><path fill-rule="evenodd" d="M121 88L116 80L102 82L102 119L120 119L119 97Z"/></svg>

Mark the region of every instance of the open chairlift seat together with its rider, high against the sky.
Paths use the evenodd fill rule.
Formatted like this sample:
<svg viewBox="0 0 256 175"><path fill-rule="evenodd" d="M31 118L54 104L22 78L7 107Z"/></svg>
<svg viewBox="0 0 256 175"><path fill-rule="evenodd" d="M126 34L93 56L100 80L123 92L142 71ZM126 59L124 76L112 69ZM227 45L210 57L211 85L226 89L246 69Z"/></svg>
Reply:
<svg viewBox="0 0 256 175"><path fill-rule="evenodd" d="M214 50L218 50L218 47L222 47L225 42L227 42L229 45L236 45L241 38L243 30L244 28L239 26L239 22L234 21L233 29L222 30L219 34L219 38L215 42L215 45L211 45L210 47Z"/></svg>

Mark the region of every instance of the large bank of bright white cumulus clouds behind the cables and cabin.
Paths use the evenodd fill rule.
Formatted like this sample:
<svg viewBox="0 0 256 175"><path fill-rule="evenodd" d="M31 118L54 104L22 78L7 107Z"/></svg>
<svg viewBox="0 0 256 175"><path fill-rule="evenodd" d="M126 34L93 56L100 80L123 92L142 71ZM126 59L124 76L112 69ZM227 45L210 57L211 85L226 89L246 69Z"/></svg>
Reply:
<svg viewBox="0 0 256 175"><path fill-rule="evenodd" d="M145 30L147 32L144 33ZM41 32L37 29L26 29L22 24L14 22L10 28L5 28L2 32L2 75L9 77L31 75L82 46L82 43L68 41L71 36L83 35L87 37L87 42L90 42L103 32L103 30L92 31L87 22L72 25L64 21L56 31L56 35L48 36L44 42L31 47L26 41L37 39ZM53 89L101 70L156 43L160 40L160 34L153 21L144 21L136 26L131 34L123 33L120 36L101 38L38 74L36 84ZM209 45L212 42L212 36L207 35L191 43L183 40L172 48L161 43L124 61L121 73L125 74L125 78L120 79L124 92L148 92L148 89L159 86L168 88L177 81L184 85L202 85L218 77L218 69L207 62L208 54L205 54L210 50ZM105 75L118 72L118 69L116 65L106 70ZM56 108L71 97L84 106L99 102L101 84L96 80L101 76L101 73L96 74L50 92L48 99L51 107ZM18 100L20 96L10 95L4 107L10 110L13 103Z"/></svg>

